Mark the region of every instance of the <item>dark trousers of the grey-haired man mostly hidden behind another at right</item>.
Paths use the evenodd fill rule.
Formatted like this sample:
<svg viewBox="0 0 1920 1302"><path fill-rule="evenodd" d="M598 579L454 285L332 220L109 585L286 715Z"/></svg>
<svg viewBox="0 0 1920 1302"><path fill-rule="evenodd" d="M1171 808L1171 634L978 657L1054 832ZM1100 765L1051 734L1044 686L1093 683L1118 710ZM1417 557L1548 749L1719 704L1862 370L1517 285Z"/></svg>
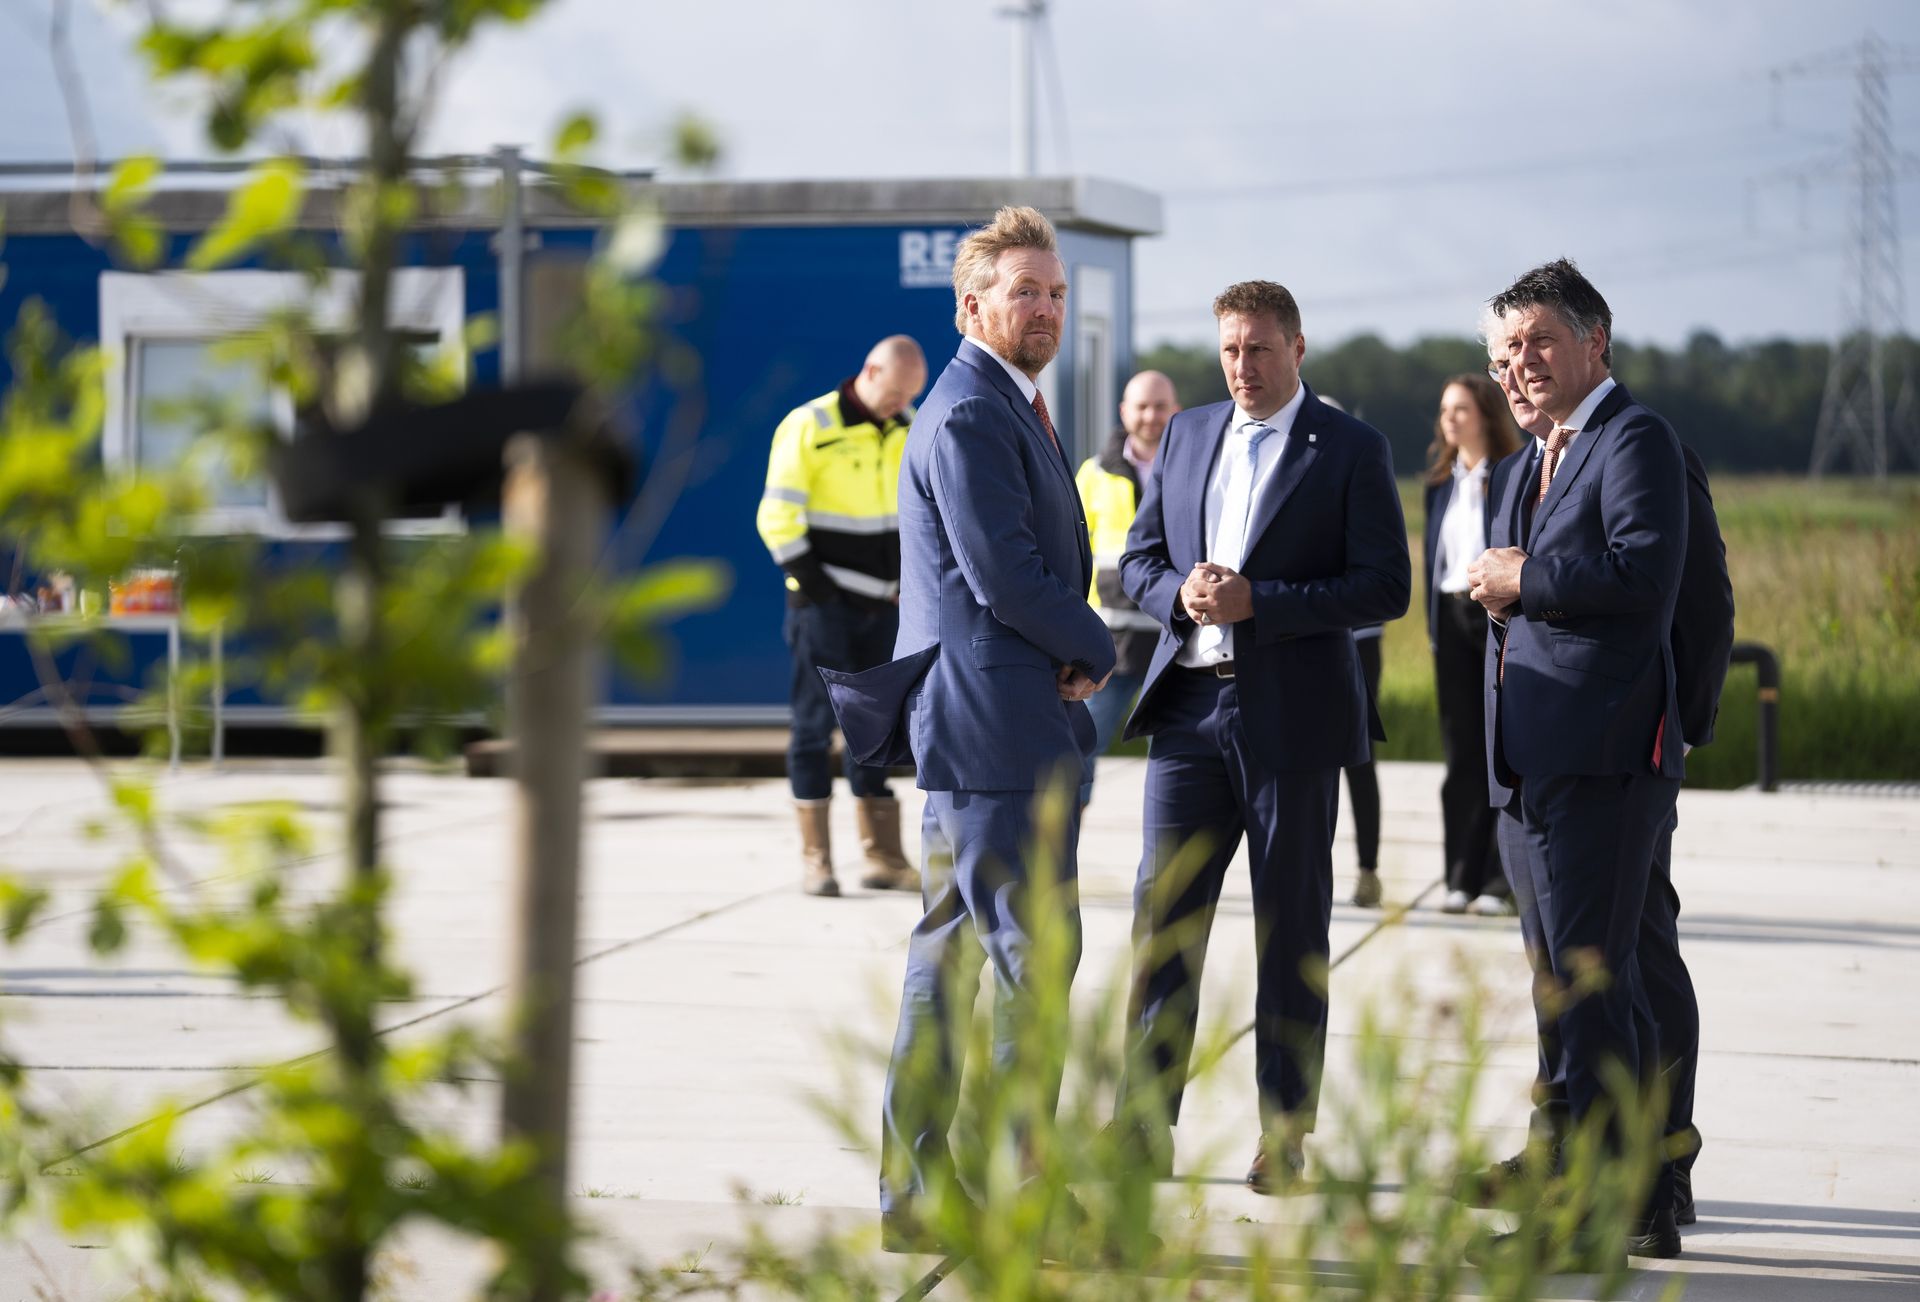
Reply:
<svg viewBox="0 0 1920 1302"><path fill-rule="evenodd" d="M1672 881L1672 839L1680 816L1674 814L1653 843L1653 872L1647 880L1647 906L1640 916L1640 985L1647 1016L1659 1041L1661 1079L1667 1085L1667 1145L1674 1166L1693 1169L1701 1135L1693 1129L1693 1085L1699 1075L1699 999L1693 976L1680 956L1680 893ZM1517 880L1519 881L1519 880ZM1515 889L1515 901L1523 897ZM1526 956L1540 972L1546 945L1540 939L1540 910L1532 899L1521 908ZM1536 1004L1538 1010L1538 1004ZM1534 1077L1534 1116L1528 1129L1542 1143L1567 1137L1567 1064L1559 1054L1559 1027L1538 1018L1540 1068Z"/></svg>

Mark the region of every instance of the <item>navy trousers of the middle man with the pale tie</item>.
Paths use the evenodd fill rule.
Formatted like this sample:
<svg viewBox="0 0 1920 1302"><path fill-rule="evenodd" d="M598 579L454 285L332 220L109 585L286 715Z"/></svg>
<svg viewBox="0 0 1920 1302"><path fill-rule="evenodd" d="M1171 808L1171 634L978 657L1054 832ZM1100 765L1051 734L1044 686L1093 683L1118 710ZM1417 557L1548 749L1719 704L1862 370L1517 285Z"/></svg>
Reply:
<svg viewBox="0 0 1920 1302"><path fill-rule="evenodd" d="M1248 843L1254 889L1254 1079L1261 1125L1311 1129L1327 1045L1327 928L1338 768L1271 772L1252 755L1233 680L1179 666L1158 689L1133 889L1127 1070L1116 1112L1179 1121L1200 974L1227 864Z"/></svg>

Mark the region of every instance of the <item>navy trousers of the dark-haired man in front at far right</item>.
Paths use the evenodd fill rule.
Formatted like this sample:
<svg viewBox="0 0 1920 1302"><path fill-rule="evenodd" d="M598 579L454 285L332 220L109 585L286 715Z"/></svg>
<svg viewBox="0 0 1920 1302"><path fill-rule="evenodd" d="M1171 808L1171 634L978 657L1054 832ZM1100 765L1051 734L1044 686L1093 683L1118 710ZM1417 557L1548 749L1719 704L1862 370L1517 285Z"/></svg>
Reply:
<svg viewBox="0 0 1920 1302"><path fill-rule="evenodd" d="M1640 941L1678 789L1678 780L1653 774L1534 776L1501 814L1501 851L1534 970L1536 1133L1557 1139L1588 1114L1609 1112L1611 1064L1644 1083L1657 1075L1661 1045ZM1607 976L1601 987L1553 1016L1544 1001L1580 981L1596 960ZM1672 1168L1663 1164L1647 1206L1670 1204Z"/></svg>

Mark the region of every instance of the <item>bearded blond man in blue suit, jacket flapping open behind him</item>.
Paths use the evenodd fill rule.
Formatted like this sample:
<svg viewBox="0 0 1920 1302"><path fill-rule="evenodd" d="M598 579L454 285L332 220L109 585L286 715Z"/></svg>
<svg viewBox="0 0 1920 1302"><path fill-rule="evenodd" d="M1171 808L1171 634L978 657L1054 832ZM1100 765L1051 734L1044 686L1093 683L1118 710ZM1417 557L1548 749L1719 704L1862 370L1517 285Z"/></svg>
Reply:
<svg viewBox="0 0 1920 1302"><path fill-rule="evenodd" d="M1041 1004L1064 1014L1079 962L1073 795L1094 739L1085 701L1114 672L1114 638L1087 603L1092 553L1073 467L1037 386L1066 323L1054 230L1031 207L1004 207L960 242L952 277L964 342L914 417L900 469L895 661L828 674L849 749L862 762L910 753L927 793L925 916L908 941L881 1118L891 1250L950 1239L933 1204L958 1198L947 1131L983 954L993 1068L1037 1081L1035 1106L1052 1114L1058 1062L1023 1062L1021 1050L1066 1035L1035 1035L1027 1020ZM1048 787L1060 793L1056 835L1039 843ZM1037 901L1054 916L1039 918ZM1050 949L1037 951L1039 928L1054 928ZM1035 1001L1046 979L1060 987Z"/></svg>

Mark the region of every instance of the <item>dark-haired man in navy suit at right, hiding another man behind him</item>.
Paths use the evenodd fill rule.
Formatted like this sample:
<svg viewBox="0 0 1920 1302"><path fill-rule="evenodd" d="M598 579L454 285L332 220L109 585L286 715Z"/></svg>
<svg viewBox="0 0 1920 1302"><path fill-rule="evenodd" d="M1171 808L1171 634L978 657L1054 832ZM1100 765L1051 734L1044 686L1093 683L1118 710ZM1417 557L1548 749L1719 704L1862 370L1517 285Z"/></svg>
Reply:
<svg viewBox="0 0 1920 1302"><path fill-rule="evenodd" d="M1688 542L1686 463L1672 428L1609 374L1611 311L1572 263L1526 273L1492 311L1496 361L1553 424L1538 470L1515 472L1524 447L1507 459L1492 547L1469 568L1473 599L1496 620L1488 787L1503 810L1501 855L1526 880L1515 893L1538 910L1567 1121L1578 1125L1622 1102L1609 1070L1645 1081L1659 1064L1638 951L1684 772L1668 630ZM1672 1200L1661 1164L1628 1252L1680 1254ZM1592 1267L1620 1252L1594 1235L1571 1246Z"/></svg>

